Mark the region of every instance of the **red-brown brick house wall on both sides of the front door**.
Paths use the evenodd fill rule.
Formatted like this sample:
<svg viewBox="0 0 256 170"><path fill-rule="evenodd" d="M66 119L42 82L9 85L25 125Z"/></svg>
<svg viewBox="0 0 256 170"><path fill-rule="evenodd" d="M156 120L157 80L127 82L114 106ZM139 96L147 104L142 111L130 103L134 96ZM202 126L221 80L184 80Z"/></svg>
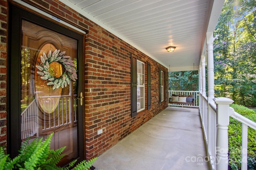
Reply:
<svg viewBox="0 0 256 170"><path fill-rule="evenodd" d="M86 96L84 105L86 139L84 147L86 148L86 159L99 156L168 106L167 102L158 103L158 70L161 68L161 70L167 71L167 68L57 0L25 1L61 20L87 30L84 64ZM6 2L5 4L7 6ZM4 19L6 17L2 16L7 15L7 10L6 8L2 10L2 8L1 31L3 29L5 35L1 35L3 49L0 49L0 97L5 98L6 86L2 83L6 82L6 69L4 69L6 63L2 61L6 59L6 19ZM151 64L151 109L147 110L146 107L135 117L130 116L131 53L135 54L138 60L145 62L145 71L147 70L146 62L148 61ZM146 80L145 90L147 91ZM2 90L3 92L1 92ZM145 99L147 99L147 96L145 96ZM5 100L0 102L3 102L5 106ZM147 106L147 101L145 100L145 102L145 106ZM0 108L2 110L2 107ZM0 119L6 119L4 110L0 113ZM5 131L1 131L1 136L5 137L5 139L0 139L2 143L6 143L6 126L4 128ZM103 129L103 133L97 135L98 129Z"/></svg>

